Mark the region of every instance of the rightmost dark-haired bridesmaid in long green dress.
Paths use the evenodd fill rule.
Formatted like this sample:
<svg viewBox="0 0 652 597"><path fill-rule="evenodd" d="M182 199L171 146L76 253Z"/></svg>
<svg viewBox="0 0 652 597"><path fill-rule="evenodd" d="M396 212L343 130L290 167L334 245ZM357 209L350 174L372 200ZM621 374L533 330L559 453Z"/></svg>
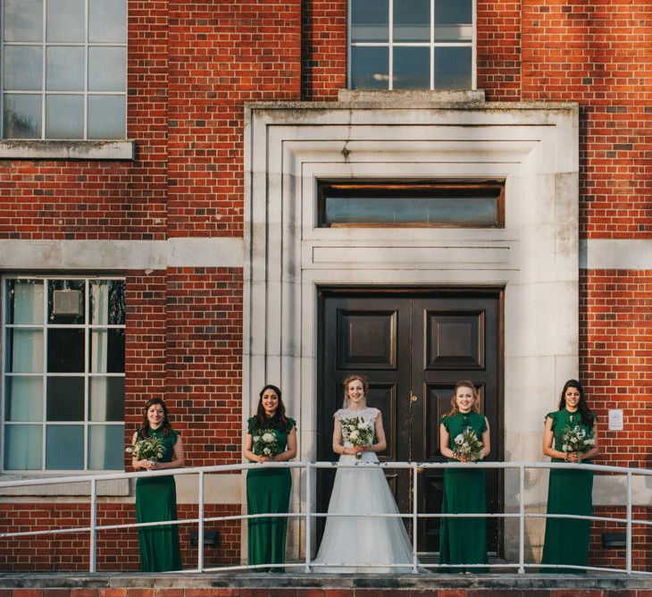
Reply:
<svg viewBox="0 0 652 597"><path fill-rule="evenodd" d="M564 450L564 429L579 425L594 444L584 452ZM564 384L559 409L546 415L543 433L543 453L553 462L590 464L598 454L596 416L590 411L584 389L577 380ZM591 516L593 512L593 471L550 469L548 483L548 514ZM590 520L575 518L547 518L546 539L543 543L541 564L570 564L586 566L589 552ZM581 573L576 568L541 568L541 572Z"/></svg>

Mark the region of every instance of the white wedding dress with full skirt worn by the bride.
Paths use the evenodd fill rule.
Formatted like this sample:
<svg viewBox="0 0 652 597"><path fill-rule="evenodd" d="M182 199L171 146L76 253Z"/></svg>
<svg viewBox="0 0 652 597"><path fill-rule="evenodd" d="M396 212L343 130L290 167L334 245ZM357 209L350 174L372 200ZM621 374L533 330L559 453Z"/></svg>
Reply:
<svg viewBox="0 0 652 597"><path fill-rule="evenodd" d="M358 416L373 424L379 413L378 408L340 408L334 416L340 420ZM344 442L345 447L352 445ZM339 457L340 464L355 462L378 462L378 457L374 452L363 452L360 460L348 454ZM396 501L380 467L338 468L328 513L353 516L326 518L322 544L313 560L314 571L370 574L413 571L412 544L401 518L355 516L398 514ZM364 568L366 564L374 567ZM391 564L404 566L394 568L389 566Z"/></svg>

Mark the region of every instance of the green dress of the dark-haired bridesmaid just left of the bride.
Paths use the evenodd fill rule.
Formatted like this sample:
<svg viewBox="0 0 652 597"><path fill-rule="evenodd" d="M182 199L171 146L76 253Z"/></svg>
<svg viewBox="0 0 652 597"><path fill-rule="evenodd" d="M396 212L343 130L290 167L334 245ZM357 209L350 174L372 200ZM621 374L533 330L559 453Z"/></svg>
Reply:
<svg viewBox="0 0 652 597"><path fill-rule="evenodd" d="M247 421L247 433L255 435L256 418ZM279 450L288 445L288 433L297 425L288 418L288 427L274 429ZM289 468L265 467L264 463L247 470L247 514L288 512L292 477ZM248 520L249 564L284 564L287 517L262 517ZM257 571L282 572L283 568L255 568Z"/></svg>

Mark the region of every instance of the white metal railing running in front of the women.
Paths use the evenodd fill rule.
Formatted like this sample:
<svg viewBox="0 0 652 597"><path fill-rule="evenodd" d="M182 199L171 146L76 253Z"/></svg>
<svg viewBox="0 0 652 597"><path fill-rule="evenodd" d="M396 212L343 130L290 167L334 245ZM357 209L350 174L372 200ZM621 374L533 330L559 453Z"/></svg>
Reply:
<svg viewBox="0 0 652 597"><path fill-rule="evenodd" d="M135 472L135 473L116 473L112 475L77 475L77 476L66 476L66 477L50 477L50 478L39 478L39 479L29 479L29 480L14 480L14 481L3 481L0 482L0 491L5 488L10 487L26 487L31 485L46 485L46 484L58 484L58 483L90 483L90 520L88 526L76 526L71 528L56 528L48 530L39 530L39 531L21 531L16 533L0 533L0 539L10 539L13 537L16 538L26 538L34 536L43 536L48 534L79 534L79 533L88 533L89 534L89 571L96 572L96 551L97 551L97 532L98 531L111 531L119 529L129 529L134 527L147 527L147 526L169 526L169 525L197 525L197 566L193 569L187 569L183 572L216 572L216 571L235 571L235 570L247 570L247 569L256 569L256 568L303 568L305 572L310 572L313 568L312 561L312 535L313 535L313 522L319 517L400 517L403 519L410 519L412 521L412 527L415 530L417 528L418 521L425 518L444 518L444 517L479 517L479 518L518 518L519 523L519 556L518 562L500 562L497 564L464 564L464 568L500 568L504 570L506 568L515 568L519 574L524 574L528 568L576 568L578 570L589 570L595 572L619 572L625 574L631 574L636 572L637 574L652 575L652 572L645 570L634 570L632 568L632 526L641 525L641 526L652 526L652 521L642 520L642 519L633 519L632 518L632 478L634 475L644 475L652 476L652 470L640 469L640 468L630 468L630 467L607 467L603 465L586 465L586 464L573 464L568 465L565 463L553 463L553 462L477 462L473 464L464 464L464 463L427 463L427 462L383 462L383 463L372 463L372 462L359 462L355 464L338 464L333 462L268 462L265 464L265 467L275 467L275 468L299 468L303 471L303 485L305 487L305 500L303 504L305 506L305 511L303 512L286 512L286 513L264 513L264 514L255 514L255 515L235 515L235 516L218 516L218 517L205 517L205 499L204 499L204 487L205 487L205 475L219 474L219 473L233 473L236 471L243 471L252 469L260 469L259 464L239 464L239 465L221 465L215 467L195 467L195 468L175 468L175 469L166 469L158 471L148 471ZM466 513L466 514L444 514L444 513L425 513L418 512L418 493L415 489L413 492L413 503L412 503L412 512L409 514L328 514L325 512L313 512L313 484L315 483L315 472L321 468L334 469L337 467L380 467L380 468L389 468L389 469L409 469L412 473L412 481L414 488L418 487L417 475L423 469L429 468L468 468L468 467L480 467L480 468L498 468L503 470L515 469L519 473L519 508L518 512L499 512L499 513ZM607 473L607 474L619 474L626 475L627 485L626 485L626 517L597 517L597 516L579 516L579 515L570 515L570 514L538 514L538 513L526 513L525 512L525 502L523 500L523 495L525 493L525 471L527 469L540 469L540 468L568 468L573 467L575 469L585 469L592 470L598 473ZM168 520L168 521L157 521L151 523L126 523L126 524L116 524L116 525L97 525L97 483L112 481L117 479L131 479L153 476L168 476L168 475L198 475L198 511L196 518L183 518L177 520ZM269 517L287 517L287 518L297 518L298 520L303 520L305 523L305 559L303 562L286 562L284 564L264 564L264 565L238 565L238 566L222 566L216 568L206 568L204 564L204 535L205 535L205 524L210 522L238 522L242 520L254 519L254 518L269 518ZM594 566L573 566L573 565L541 565L535 563L526 563L525 562L525 520L526 518L575 518L580 520L595 520L595 521L606 521L611 524L624 524L626 526L626 542L625 542L625 567L624 568L601 568ZM416 542L413 539L413 561L411 564L412 571L414 573L418 572L420 569L428 568L458 568L459 564L427 564L419 561L419 556L424 555L420 554L417 551ZM405 563L403 564L387 564L380 562L377 565L368 565L366 568L405 568ZM319 568L327 568L322 563L319 564ZM333 567L330 567L333 568ZM335 567L337 568L337 567ZM356 568L361 568L356 566Z"/></svg>

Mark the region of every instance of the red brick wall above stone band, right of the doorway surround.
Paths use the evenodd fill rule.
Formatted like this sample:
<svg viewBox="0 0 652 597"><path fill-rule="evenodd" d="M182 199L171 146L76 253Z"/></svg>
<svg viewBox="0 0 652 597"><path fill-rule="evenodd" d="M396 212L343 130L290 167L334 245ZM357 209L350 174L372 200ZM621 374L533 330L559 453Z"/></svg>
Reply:
<svg viewBox="0 0 652 597"><path fill-rule="evenodd" d="M652 234L651 38L643 0L522 3L522 100L581 105L584 238Z"/></svg>

